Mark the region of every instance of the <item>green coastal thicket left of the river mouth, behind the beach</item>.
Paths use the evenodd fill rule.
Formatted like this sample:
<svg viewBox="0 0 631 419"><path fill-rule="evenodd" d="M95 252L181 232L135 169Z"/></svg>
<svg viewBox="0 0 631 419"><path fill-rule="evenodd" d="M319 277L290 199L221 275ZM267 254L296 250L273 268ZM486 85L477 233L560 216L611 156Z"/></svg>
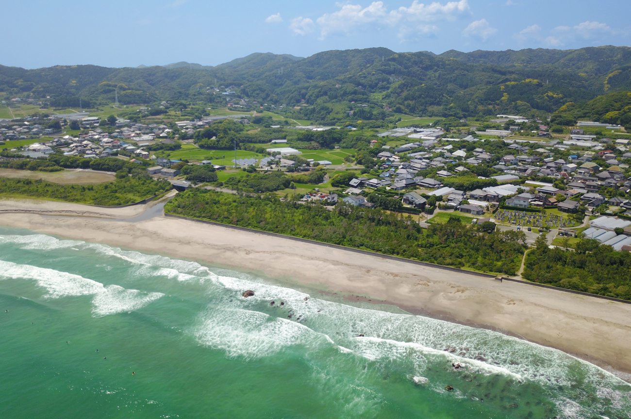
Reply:
<svg viewBox="0 0 631 419"><path fill-rule="evenodd" d="M133 204L171 188L168 181L155 181L149 176L125 176L114 182L97 185L59 185L43 180L0 179L1 194L108 207Z"/></svg>

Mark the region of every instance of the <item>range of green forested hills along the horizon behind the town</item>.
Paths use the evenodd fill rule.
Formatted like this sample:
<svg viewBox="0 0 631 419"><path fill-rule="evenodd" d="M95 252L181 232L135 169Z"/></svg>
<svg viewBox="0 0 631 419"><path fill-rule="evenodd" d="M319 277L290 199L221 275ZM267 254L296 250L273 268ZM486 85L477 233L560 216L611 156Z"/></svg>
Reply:
<svg viewBox="0 0 631 419"><path fill-rule="evenodd" d="M552 113L605 93L631 90L631 48L396 53L333 50L305 59L251 54L220 66L175 63L142 68L0 66L0 96L46 98L51 106L232 98L273 105L304 103L304 119L326 120L351 101L412 115L466 117ZM221 89L223 91L223 89ZM4 93L4 95L3 95ZM303 112L303 111L301 111ZM300 115L295 115L300 117Z"/></svg>

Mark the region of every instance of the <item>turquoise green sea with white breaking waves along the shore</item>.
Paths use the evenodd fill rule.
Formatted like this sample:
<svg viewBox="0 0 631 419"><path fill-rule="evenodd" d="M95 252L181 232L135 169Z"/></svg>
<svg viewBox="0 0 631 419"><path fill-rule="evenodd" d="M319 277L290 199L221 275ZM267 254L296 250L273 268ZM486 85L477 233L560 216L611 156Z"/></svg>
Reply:
<svg viewBox="0 0 631 419"><path fill-rule="evenodd" d="M381 308L0 229L0 418L631 418L594 365Z"/></svg>

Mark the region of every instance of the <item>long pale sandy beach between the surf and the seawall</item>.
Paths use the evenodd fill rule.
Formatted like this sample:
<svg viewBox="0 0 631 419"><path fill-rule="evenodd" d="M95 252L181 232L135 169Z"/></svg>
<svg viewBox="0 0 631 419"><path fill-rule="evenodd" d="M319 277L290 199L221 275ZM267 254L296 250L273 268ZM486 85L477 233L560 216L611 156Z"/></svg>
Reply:
<svg viewBox="0 0 631 419"><path fill-rule="evenodd" d="M338 293L351 301L396 304L411 313L491 328L558 348L618 370L627 381L631 377L631 304L194 221L160 216L143 220L143 212L153 205L103 209L0 200L0 225L195 260L288 286ZM17 212L23 210L29 212Z"/></svg>

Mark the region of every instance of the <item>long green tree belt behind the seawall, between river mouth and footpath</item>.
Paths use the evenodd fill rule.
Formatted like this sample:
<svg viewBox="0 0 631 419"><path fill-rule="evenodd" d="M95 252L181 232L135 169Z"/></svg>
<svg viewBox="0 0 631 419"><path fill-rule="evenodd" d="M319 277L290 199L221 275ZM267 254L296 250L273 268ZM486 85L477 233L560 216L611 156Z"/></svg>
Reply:
<svg viewBox="0 0 631 419"><path fill-rule="evenodd" d="M165 212L509 275L519 268L525 249L523 232L496 232L492 223L478 228L454 218L423 231L409 215L343 204L331 211L319 204L283 202L276 195L187 190L170 200Z"/></svg>

